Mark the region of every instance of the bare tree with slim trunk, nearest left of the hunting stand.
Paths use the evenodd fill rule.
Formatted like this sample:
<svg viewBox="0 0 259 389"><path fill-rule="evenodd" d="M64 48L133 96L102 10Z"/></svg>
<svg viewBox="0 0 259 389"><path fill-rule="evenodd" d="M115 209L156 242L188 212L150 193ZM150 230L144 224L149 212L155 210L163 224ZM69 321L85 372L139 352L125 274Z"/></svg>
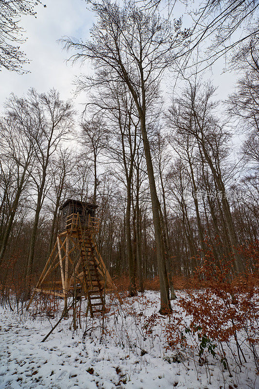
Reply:
<svg viewBox="0 0 259 389"><path fill-rule="evenodd" d="M49 165L59 143L68 139L74 111L71 103L61 100L59 93L54 89L47 94L38 94L32 89L28 94L27 102L32 122L29 133L30 137L34 139L37 161L31 174L36 189L36 208L26 272L26 276L29 278L33 269L39 215L44 198L50 188Z"/></svg>

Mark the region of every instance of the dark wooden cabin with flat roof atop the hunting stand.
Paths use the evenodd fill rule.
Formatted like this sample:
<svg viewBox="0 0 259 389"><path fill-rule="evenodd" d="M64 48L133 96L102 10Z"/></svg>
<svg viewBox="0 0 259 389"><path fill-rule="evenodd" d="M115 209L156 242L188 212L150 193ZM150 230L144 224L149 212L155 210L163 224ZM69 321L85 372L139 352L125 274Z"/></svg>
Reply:
<svg viewBox="0 0 259 389"><path fill-rule="evenodd" d="M61 205L60 211L60 227L59 232L69 229L68 220L71 218L71 215L79 214L80 223L82 227L86 227L89 221L89 215L91 220L95 218L95 210L98 208L98 205L86 203L84 201L73 200L69 198Z"/></svg>

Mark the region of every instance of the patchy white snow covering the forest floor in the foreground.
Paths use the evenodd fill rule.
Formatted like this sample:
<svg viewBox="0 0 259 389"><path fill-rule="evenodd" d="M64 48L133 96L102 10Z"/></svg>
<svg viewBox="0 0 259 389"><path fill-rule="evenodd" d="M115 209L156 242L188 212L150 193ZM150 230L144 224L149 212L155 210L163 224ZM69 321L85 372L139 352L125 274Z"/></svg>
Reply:
<svg viewBox="0 0 259 389"><path fill-rule="evenodd" d="M213 359L208 369L192 359L174 358L172 351L165 351L155 322L155 332L145 336L136 318L141 321L142 316L157 313L157 292L118 306L106 315L101 340L102 319L83 317L82 329L74 333L69 329L72 318L63 319L44 343L57 318L18 316L0 308L0 389L259 388L252 357L238 376L230 377ZM130 314L133 311L137 316ZM61 306L57 316L60 312Z"/></svg>

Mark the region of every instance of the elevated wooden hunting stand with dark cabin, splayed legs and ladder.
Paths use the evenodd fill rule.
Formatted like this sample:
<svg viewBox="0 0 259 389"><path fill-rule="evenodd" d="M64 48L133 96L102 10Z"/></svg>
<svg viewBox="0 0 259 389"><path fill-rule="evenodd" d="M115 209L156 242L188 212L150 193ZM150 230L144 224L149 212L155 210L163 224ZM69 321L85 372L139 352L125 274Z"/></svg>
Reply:
<svg viewBox="0 0 259 389"><path fill-rule="evenodd" d="M41 273L28 310L36 293L45 293L76 301L87 299L87 311L93 317L104 312L104 289L116 287L96 247L94 236L99 232L98 205L68 199L60 207L59 233L52 253Z"/></svg>

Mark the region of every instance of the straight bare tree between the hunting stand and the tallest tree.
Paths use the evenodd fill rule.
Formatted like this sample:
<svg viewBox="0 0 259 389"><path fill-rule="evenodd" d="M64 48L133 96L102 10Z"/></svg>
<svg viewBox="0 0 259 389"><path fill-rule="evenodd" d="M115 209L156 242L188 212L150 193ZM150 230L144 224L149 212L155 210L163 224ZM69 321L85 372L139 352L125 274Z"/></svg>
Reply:
<svg viewBox="0 0 259 389"><path fill-rule="evenodd" d="M115 168L111 169L112 174L126 187L125 234L130 279L129 294L136 296L136 265L131 237L132 179L136 150L139 146L136 108L127 88L123 84L112 82L98 90L95 97L91 97L90 106L106 120L106 142L103 149L109 161L115 164Z"/></svg>

